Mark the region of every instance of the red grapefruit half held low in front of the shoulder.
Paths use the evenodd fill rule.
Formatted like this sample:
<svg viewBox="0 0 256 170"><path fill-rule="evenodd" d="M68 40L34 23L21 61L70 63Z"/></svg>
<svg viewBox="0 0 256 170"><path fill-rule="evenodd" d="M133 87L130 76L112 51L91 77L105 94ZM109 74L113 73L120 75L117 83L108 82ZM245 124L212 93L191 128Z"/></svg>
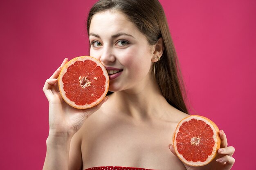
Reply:
<svg viewBox="0 0 256 170"><path fill-rule="evenodd" d="M189 166L210 163L220 148L219 128L210 119L191 115L182 119L173 133L176 155Z"/></svg>

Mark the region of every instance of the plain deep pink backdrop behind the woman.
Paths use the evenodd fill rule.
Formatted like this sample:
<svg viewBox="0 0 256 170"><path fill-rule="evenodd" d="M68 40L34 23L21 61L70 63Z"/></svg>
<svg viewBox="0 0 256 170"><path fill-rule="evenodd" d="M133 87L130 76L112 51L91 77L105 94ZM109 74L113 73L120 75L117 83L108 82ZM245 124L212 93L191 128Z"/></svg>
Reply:
<svg viewBox="0 0 256 170"><path fill-rule="evenodd" d="M233 170L251 169L256 158L256 1L160 2L191 113L212 119L226 132L236 148ZM42 88L65 57L88 55L84 22L91 5L91 0L0 2L1 170L42 169L49 130Z"/></svg>

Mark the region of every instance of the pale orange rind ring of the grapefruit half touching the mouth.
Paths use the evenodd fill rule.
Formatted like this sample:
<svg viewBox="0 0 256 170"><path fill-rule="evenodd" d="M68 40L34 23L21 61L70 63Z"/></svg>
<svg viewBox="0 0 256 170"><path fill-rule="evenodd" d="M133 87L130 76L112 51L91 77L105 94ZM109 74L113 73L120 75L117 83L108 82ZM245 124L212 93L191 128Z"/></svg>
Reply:
<svg viewBox="0 0 256 170"><path fill-rule="evenodd" d="M92 61L94 61L97 64L97 66L101 67L101 69L103 71L103 75L106 77L105 91L103 92L101 97L99 97L95 102L92 102L91 104L77 105L73 101L71 101L70 99L68 99L66 97L65 91L63 90L64 84L62 82L62 77L67 72L67 68L70 67L72 64L74 64L76 61L85 61L85 60L92 60ZM65 64L65 66L63 66L63 68L61 69L61 73L58 76L58 87L59 87L59 91L61 93L62 98L64 99L64 101L67 104L69 104L70 106L72 106L74 108L78 108L78 109L91 108L91 107L96 106L97 104L99 104L104 99L104 97L107 95L107 93L108 93L108 86L109 86L109 77L108 77L108 72L107 72L105 66L103 64L101 64L101 62L99 60L97 60L96 58L91 57L91 56L80 56L80 57L73 58L72 60L67 62Z"/></svg>

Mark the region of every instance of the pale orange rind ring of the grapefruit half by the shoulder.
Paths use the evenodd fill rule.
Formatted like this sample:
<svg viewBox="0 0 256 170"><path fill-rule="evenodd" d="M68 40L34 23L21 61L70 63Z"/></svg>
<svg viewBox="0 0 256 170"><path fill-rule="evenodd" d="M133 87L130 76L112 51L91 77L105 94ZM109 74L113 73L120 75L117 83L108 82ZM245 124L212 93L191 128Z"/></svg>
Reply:
<svg viewBox="0 0 256 170"><path fill-rule="evenodd" d="M212 128L213 130L213 139L215 141L215 144L213 146L213 151L211 153L211 155L208 156L207 160L204 162L201 161L197 161L197 162L193 162L193 161L187 161L186 159L184 159L184 157L178 152L177 150L177 142L176 142L176 137L177 137L177 132L179 132L180 126L182 126L182 124L185 121L189 121L191 119L198 119L198 120L202 120L204 122L206 122L206 124L209 124L209 126ZM177 127L175 132L173 133L173 148L175 149L175 153L177 155L177 157L179 157L179 159L189 165L189 166L204 166L207 165L208 163L210 163L217 155L218 149L220 148L220 130L218 128L218 126L216 126L216 124L211 121L210 119L208 119L207 117L203 117L203 116L199 116L199 115L190 115L188 117L185 117L184 119L182 119Z"/></svg>

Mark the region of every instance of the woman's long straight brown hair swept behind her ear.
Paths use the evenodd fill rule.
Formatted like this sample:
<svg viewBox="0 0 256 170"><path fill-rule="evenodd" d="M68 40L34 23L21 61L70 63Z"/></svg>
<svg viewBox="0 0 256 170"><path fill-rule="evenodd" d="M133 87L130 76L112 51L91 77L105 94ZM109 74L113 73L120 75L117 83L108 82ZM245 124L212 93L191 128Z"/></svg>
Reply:
<svg viewBox="0 0 256 170"><path fill-rule="evenodd" d="M127 18L143 33L148 43L154 45L159 38L164 41L161 60L155 63L156 81L166 101L173 107L188 113L184 99L185 88L179 62L169 31L164 9L158 0L99 0L90 9L87 19L87 32L94 14L116 10ZM152 73L153 73L153 69Z"/></svg>

